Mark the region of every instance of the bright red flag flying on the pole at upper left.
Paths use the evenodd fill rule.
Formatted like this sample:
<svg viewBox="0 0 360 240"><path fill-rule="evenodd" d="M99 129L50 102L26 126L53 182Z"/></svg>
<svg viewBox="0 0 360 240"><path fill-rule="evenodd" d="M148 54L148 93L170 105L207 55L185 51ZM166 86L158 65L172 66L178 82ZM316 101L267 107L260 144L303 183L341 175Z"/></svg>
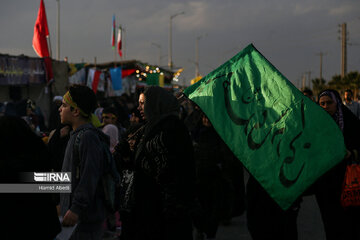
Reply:
<svg viewBox="0 0 360 240"><path fill-rule="evenodd" d="M45 58L44 61L46 67L47 80L49 81L50 79L53 78L53 71L52 71L51 59L49 58L50 54L46 39L47 37L49 37L49 28L47 25L45 5L44 5L44 1L40 0L40 8L34 26L34 36L33 36L32 44L36 54L39 57Z"/></svg>

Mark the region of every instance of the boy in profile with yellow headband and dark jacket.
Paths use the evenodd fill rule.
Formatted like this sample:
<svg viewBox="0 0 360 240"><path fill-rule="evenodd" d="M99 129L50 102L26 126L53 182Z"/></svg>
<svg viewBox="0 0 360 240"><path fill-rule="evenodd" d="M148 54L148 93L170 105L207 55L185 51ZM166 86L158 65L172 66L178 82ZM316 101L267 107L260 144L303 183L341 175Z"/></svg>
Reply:
<svg viewBox="0 0 360 240"><path fill-rule="evenodd" d="M77 224L71 239L101 239L105 220L105 202L101 183L104 174L105 155L101 148L101 131L97 117L92 114L96 107L93 91L75 85L64 95L59 109L62 124L72 127L62 172L71 172L71 193L60 194L60 212L63 226ZM96 121L97 120L97 121ZM78 134L82 132L78 145ZM78 146L74 150L74 147Z"/></svg>

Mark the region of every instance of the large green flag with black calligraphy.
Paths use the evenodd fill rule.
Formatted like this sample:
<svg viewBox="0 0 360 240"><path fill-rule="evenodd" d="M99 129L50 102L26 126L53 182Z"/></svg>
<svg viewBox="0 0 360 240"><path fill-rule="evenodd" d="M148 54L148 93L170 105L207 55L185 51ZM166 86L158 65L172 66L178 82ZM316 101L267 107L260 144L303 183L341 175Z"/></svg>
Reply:
<svg viewBox="0 0 360 240"><path fill-rule="evenodd" d="M346 154L330 115L253 45L184 93L284 210Z"/></svg>

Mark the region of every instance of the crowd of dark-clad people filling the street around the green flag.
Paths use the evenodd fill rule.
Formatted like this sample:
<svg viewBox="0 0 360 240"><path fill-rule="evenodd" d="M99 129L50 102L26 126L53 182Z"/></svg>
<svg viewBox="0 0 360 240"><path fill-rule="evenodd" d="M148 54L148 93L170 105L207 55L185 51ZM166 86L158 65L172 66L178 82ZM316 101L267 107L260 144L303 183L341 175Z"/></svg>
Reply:
<svg viewBox="0 0 360 240"><path fill-rule="evenodd" d="M315 101L311 91L304 95ZM340 204L346 165L359 160L360 151L360 104L351 90L344 99L335 90L317 97L343 133L348 154L304 193L316 197L328 240L360 239L359 209ZM301 197L284 211L251 174L245 188L242 163L206 114L181 94L152 86L137 102L127 96L99 101L90 88L74 85L53 104L49 129L30 100L24 116L9 108L0 117L3 180L12 172L72 173L71 193L2 194L2 206L19 202L4 210L5 216L38 219L20 235L54 239L61 225L76 225L71 239L102 239L121 222L122 240L215 239L220 224L246 213L254 240L297 239ZM119 174L114 211L105 206L103 141ZM20 152L17 146L26 148ZM20 204L23 199L26 204ZM14 229L14 221L9 218L7 229ZM45 222L50 227L40 234L36 229Z"/></svg>

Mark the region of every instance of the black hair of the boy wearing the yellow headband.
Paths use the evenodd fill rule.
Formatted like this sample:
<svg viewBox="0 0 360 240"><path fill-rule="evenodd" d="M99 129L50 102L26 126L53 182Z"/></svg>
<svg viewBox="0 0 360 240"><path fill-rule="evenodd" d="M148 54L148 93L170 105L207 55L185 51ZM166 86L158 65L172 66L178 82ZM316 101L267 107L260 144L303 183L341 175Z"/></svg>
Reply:
<svg viewBox="0 0 360 240"><path fill-rule="evenodd" d="M69 89L72 100L88 116L96 109L97 99L95 93L87 86L72 85Z"/></svg>

